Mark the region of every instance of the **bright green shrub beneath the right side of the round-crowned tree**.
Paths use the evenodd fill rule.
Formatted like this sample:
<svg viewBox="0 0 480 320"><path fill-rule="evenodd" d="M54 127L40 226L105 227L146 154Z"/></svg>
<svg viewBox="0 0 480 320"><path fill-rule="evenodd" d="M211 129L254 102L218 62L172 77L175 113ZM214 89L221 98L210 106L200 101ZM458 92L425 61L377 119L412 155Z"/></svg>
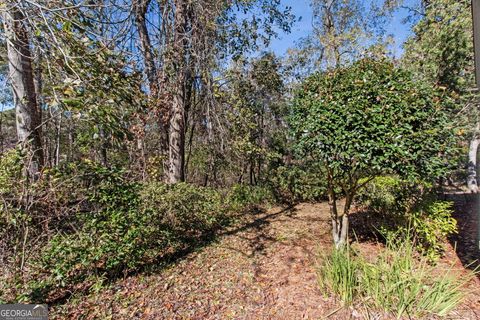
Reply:
<svg viewBox="0 0 480 320"><path fill-rule="evenodd" d="M445 238L457 230L452 203L437 201L431 185L421 181L377 177L359 191L356 201L375 214L376 229L409 234L417 249L431 261L441 255ZM412 232L405 232L410 229Z"/></svg>

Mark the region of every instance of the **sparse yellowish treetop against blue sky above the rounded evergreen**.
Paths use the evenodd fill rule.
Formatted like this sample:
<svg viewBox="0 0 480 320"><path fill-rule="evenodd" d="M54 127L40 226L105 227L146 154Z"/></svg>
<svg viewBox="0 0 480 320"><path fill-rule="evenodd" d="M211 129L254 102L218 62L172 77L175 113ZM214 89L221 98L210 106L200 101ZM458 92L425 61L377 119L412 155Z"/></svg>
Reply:
<svg viewBox="0 0 480 320"><path fill-rule="evenodd" d="M305 78L317 70L345 66L366 52L387 52L388 0L311 0L312 32L288 51L292 75Z"/></svg>

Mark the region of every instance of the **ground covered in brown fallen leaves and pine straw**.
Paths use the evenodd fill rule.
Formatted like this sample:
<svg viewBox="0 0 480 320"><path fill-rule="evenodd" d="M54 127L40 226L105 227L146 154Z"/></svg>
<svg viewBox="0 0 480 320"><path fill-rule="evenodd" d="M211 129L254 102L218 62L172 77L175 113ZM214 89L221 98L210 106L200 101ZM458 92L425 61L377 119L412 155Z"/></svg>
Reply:
<svg viewBox="0 0 480 320"><path fill-rule="evenodd" d="M478 207L470 195L451 197L456 201L460 233L449 239L439 270L453 264L466 272L465 267L478 258L472 254L478 252L473 221ZM361 231L353 220L352 229ZM342 307L320 290L315 266L319 252L330 250L330 238L326 203L252 213L167 268L72 295L69 301L51 306L51 318L390 319L361 305ZM356 246L365 254L375 254L381 245L365 239ZM465 290L477 290L479 285L475 278ZM469 293L449 318L480 319L478 290Z"/></svg>

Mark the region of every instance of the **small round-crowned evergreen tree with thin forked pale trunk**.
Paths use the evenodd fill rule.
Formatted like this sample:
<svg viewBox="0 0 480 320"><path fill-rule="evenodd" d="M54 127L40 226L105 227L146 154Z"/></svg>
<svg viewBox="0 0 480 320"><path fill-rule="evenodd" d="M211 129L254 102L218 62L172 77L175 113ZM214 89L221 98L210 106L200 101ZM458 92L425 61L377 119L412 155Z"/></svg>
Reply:
<svg viewBox="0 0 480 320"><path fill-rule="evenodd" d="M355 194L370 179L443 174L444 157L455 143L448 101L445 92L413 81L391 62L371 59L317 73L301 85L290 125L299 153L326 169L337 248L348 239Z"/></svg>

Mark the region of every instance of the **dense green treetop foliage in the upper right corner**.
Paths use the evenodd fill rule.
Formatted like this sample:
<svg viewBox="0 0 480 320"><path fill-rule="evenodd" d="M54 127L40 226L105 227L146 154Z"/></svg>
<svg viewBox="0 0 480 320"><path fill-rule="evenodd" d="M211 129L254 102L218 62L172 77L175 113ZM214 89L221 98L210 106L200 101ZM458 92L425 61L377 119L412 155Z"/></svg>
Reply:
<svg viewBox="0 0 480 320"><path fill-rule="evenodd" d="M402 62L418 78L462 93L474 81L470 1L434 1L423 11Z"/></svg>

